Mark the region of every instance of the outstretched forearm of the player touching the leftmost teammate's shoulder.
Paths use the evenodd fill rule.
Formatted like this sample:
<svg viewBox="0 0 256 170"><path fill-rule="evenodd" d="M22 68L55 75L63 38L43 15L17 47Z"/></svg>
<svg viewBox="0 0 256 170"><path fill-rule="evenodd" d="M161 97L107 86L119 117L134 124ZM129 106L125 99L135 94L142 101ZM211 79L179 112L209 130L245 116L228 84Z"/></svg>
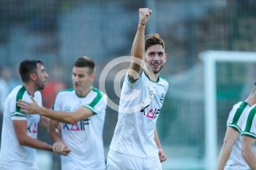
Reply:
<svg viewBox="0 0 256 170"><path fill-rule="evenodd" d="M72 114L71 112L52 111L51 109L40 107L38 113L52 120L60 121L63 123L74 124L78 121L76 114Z"/></svg>

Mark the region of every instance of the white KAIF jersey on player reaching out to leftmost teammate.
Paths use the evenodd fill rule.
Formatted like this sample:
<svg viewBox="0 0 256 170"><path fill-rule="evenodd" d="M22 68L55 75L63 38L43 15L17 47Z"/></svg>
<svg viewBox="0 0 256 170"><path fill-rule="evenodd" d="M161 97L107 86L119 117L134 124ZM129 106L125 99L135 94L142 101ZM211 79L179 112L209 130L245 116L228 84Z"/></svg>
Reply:
<svg viewBox="0 0 256 170"><path fill-rule="evenodd" d="M62 139L72 150L67 157L61 156L63 169L105 169L102 130L106 98L106 95L96 88L93 88L86 97L78 97L74 89L65 89L58 93L52 110L74 112L83 105L93 112L93 116L74 125L62 123Z"/></svg>

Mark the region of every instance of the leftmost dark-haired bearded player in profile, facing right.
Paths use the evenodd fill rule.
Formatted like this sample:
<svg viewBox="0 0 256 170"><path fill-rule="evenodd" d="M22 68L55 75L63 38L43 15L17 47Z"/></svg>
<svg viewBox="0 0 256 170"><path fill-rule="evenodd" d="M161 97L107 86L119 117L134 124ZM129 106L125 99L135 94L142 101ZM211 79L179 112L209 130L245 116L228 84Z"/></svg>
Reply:
<svg viewBox="0 0 256 170"><path fill-rule="evenodd" d="M43 62L26 59L19 65L23 85L17 86L4 103L3 132L1 138L0 169L38 169L36 149L52 151L52 146L36 139L38 125L47 128L49 119L40 115L20 112L19 99L31 102L30 95L42 105L40 89L48 77Z"/></svg>

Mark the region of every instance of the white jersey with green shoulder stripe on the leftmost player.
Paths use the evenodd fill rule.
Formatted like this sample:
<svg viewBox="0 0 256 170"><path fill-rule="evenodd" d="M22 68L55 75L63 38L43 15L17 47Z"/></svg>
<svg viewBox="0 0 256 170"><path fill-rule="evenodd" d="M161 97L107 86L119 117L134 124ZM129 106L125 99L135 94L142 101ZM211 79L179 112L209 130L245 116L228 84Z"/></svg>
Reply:
<svg viewBox="0 0 256 170"><path fill-rule="evenodd" d="M39 105L42 105L42 96L39 91L35 92L34 98ZM4 103L0 165L3 169L38 169L36 166L36 149L19 144L12 120L27 120L27 134L36 139L40 115L21 113L20 107L17 107L16 104L19 99L33 102L24 86L17 86L6 98Z"/></svg>

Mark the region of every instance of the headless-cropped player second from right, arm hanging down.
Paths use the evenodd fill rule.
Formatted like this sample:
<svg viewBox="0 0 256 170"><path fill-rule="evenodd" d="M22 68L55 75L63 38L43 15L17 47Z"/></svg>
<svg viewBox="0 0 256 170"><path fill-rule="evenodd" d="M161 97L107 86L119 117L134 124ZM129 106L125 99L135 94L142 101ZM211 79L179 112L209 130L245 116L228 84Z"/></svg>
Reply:
<svg viewBox="0 0 256 170"><path fill-rule="evenodd" d="M243 119L250 106L256 104L256 82L252 91L244 102L238 102L233 106L227 120L227 131L223 146L218 158L217 169L248 169L241 155L242 136L240 135ZM243 133L242 133L243 135Z"/></svg>

